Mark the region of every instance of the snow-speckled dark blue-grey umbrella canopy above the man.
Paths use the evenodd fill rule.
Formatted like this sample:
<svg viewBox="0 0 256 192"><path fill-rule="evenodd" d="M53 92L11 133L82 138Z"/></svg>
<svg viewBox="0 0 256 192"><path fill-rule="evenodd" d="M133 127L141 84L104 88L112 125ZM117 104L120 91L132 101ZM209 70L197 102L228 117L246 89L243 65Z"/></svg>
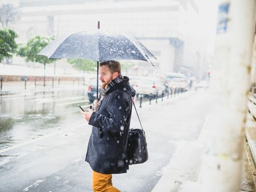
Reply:
<svg viewBox="0 0 256 192"><path fill-rule="evenodd" d="M37 55L44 55L49 59L87 58L96 61L127 59L148 62L150 58L155 58L136 39L100 29L62 35Z"/></svg>

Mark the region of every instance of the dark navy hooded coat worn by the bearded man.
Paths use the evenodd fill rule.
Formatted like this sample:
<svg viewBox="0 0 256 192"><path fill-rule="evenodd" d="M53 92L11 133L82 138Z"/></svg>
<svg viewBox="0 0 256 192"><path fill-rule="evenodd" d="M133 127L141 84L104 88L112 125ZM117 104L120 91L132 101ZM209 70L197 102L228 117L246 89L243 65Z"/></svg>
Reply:
<svg viewBox="0 0 256 192"><path fill-rule="evenodd" d="M126 173L128 170L127 140L134 89L129 78L107 92L98 112L93 112L86 159L92 170L103 174Z"/></svg>

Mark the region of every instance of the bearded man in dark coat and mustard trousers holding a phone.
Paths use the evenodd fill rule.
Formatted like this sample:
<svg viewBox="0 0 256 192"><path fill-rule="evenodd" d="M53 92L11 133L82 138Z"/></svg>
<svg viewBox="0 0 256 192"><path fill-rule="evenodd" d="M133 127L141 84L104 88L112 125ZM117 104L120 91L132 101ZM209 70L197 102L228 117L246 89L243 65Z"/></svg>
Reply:
<svg viewBox="0 0 256 192"><path fill-rule="evenodd" d="M92 168L94 192L120 192L112 185L112 174L128 170L127 140L135 90L121 75L118 61L100 64L102 90L94 111L82 116L92 125L86 159Z"/></svg>

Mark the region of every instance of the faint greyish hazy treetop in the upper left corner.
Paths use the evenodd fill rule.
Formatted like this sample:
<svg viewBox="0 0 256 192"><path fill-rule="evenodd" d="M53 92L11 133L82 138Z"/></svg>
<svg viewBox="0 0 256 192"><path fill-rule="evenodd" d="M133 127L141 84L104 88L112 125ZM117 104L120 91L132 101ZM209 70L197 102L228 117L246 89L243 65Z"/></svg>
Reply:
<svg viewBox="0 0 256 192"><path fill-rule="evenodd" d="M0 23L3 27L8 27L9 23L14 23L20 17L18 8L12 4L2 4L0 7Z"/></svg>

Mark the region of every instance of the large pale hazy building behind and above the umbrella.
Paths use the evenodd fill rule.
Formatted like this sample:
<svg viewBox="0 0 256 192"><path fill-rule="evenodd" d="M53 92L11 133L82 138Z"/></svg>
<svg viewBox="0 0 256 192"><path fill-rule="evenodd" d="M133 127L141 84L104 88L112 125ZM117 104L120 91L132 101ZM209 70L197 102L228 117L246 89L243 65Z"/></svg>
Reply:
<svg viewBox="0 0 256 192"><path fill-rule="evenodd" d="M193 0L18 0L18 42L97 28L135 37L157 60L137 61L138 75L196 74L198 8Z"/></svg>

